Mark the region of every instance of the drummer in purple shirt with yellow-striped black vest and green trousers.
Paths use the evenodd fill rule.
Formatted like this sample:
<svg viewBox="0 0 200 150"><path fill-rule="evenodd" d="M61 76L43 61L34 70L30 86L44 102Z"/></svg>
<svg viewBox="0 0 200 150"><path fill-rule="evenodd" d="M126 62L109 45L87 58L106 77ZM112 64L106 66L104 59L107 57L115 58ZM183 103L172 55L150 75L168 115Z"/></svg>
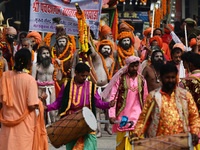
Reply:
<svg viewBox="0 0 200 150"><path fill-rule="evenodd" d="M56 101L45 106L47 111L57 110L61 108L60 116L72 114L84 106L90 108L94 115L95 107L100 109L109 109L115 105L115 101L103 102L99 96L96 85L91 81L86 81L90 74L90 67L85 63L78 63L75 67L75 77L66 81L61 88ZM86 134L85 136L66 144L67 150L72 149L96 150L97 138L95 132Z"/></svg>

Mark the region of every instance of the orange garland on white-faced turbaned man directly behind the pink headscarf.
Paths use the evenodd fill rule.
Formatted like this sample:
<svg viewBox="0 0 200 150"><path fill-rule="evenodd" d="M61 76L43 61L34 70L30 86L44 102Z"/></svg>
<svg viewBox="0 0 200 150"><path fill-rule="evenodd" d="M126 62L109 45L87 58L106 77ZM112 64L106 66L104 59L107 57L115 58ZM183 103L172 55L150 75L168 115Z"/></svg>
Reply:
<svg viewBox="0 0 200 150"><path fill-rule="evenodd" d="M123 53L126 54L126 56L124 56ZM131 46L128 49L128 52L126 50L122 49L120 46L118 47L118 60L119 60L119 64L121 67L123 67L123 65L125 65L125 58L127 58L131 55L135 55L133 46ZM122 64L122 62L123 62L123 64Z"/></svg>

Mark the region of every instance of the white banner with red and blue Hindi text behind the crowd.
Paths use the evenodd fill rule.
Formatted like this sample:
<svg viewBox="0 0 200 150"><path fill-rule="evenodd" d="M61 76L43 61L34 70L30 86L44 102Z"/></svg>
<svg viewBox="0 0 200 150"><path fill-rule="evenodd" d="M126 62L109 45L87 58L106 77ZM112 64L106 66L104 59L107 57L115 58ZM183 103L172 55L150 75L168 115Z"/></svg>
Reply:
<svg viewBox="0 0 200 150"><path fill-rule="evenodd" d="M78 3L85 13L86 22L97 37L102 0L71 0L69 4L63 1L66 0L31 0L29 30L55 33L56 23L52 19L60 17L60 23L64 24L66 33L77 35L78 20L75 14L75 3Z"/></svg>

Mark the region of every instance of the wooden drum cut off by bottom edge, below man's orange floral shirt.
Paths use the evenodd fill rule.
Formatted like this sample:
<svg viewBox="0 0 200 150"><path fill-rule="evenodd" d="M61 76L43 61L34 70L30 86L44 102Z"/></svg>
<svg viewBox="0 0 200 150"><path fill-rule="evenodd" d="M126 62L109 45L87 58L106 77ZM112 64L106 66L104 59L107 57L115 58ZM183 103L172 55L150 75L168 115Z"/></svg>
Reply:
<svg viewBox="0 0 200 150"><path fill-rule="evenodd" d="M132 141L134 150L193 150L190 133L157 136L155 138Z"/></svg>

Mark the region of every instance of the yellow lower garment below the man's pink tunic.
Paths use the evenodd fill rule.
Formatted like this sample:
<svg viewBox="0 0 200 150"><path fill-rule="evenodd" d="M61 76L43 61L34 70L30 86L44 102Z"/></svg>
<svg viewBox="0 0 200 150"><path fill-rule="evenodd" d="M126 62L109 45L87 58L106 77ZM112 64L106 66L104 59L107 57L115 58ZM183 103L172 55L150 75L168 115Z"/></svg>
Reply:
<svg viewBox="0 0 200 150"><path fill-rule="evenodd" d="M116 150L133 150L132 145L130 144L129 140L129 132L124 131L124 132L117 132L117 146Z"/></svg>

